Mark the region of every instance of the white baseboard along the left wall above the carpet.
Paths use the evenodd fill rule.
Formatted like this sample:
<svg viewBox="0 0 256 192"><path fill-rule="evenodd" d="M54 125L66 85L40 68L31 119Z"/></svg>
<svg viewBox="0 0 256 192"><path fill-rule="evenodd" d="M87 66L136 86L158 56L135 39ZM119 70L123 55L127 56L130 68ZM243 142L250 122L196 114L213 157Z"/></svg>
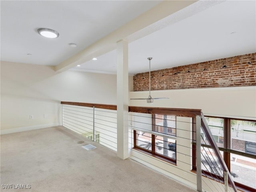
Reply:
<svg viewBox="0 0 256 192"><path fill-rule="evenodd" d="M8 134L8 133L18 133L22 131L30 131L34 129L42 129L42 128L47 128L47 127L54 127L54 126L59 126L61 125L60 123L49 123L49 124L43 124L43 125L33 125L33 126L28 126L28 127L17 127L13 129L3 129L0 130L0 135Z"/></svg>

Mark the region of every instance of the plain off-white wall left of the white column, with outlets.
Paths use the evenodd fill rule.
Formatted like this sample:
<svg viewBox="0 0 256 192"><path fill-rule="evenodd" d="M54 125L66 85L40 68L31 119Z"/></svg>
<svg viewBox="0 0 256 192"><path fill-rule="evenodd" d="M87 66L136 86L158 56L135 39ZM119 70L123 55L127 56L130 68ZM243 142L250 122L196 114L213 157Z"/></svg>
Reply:
<svg viewBox="0 0 256 192"><path fill-rule="evenodd" d="M116 75L1 61L1 133L60 125L60 101L116 104Z"/></svg>

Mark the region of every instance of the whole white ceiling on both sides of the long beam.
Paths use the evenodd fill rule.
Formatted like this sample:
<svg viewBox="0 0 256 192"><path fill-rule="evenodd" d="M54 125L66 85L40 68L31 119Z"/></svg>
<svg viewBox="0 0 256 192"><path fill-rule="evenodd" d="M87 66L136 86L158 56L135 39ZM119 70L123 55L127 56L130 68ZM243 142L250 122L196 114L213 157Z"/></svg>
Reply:
<svg viewBox="0 0 256 192"><path fill-rule="evenodd" d="M1 1L1 61L58 65L160 3ZM40 27L60 36L42 37ZM157 70L254 53L255 34L255 1L198 1L126 37L129 74L148 71L147 57ZM116 73L116 49L97 58L72 70Z"/></svg>

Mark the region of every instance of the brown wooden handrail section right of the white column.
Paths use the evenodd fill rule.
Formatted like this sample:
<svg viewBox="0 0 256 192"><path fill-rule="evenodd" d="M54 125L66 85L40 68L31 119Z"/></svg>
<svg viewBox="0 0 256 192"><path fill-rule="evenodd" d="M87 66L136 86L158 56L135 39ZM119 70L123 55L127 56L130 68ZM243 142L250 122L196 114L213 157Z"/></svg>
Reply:
<svg viewBox="0 0 256 192"><path fill-rule="evenodd" d="M182 109L182 108L159 108L159 107L135 107L129 106L129 112L138 112L146 114L175 115L181 117L195 117L201 115L200 109Z"/></svg>

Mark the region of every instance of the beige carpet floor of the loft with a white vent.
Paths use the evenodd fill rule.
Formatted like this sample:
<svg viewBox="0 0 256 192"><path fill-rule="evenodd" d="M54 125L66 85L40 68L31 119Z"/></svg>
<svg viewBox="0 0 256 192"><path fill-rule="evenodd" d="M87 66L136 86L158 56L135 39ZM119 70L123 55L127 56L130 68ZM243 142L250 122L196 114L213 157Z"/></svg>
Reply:
<svg viewBox="0 0 256 192"><path fill-rule="evenodd" d="M195 192L62 126L1 135L0 142L0 191Z"/></svg>

